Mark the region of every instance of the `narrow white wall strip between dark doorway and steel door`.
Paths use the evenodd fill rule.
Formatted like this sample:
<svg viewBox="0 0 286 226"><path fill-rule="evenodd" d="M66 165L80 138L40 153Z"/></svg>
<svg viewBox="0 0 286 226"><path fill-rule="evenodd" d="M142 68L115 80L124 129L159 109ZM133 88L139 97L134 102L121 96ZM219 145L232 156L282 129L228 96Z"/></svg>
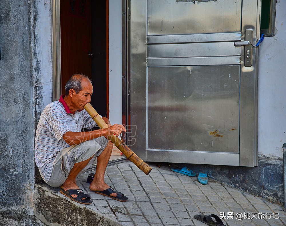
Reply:
<svg viewBox="0 0 286 226"><path fill-rule="evenodd" d="M122 1L109 0L109 119L122 124Z"/></svg>

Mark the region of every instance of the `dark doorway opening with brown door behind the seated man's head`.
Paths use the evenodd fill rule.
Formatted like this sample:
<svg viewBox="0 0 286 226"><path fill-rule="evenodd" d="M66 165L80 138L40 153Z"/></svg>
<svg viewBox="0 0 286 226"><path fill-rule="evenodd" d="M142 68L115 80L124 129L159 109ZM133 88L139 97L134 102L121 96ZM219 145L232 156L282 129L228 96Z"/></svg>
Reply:
<svg viewBox="0 0 286 226"><path fill-rule="evenodd" d="M91 104L102 116L108 110L106 6L106 1L60 1L62 94L70 76L85 74L93 83Z"/></svg>

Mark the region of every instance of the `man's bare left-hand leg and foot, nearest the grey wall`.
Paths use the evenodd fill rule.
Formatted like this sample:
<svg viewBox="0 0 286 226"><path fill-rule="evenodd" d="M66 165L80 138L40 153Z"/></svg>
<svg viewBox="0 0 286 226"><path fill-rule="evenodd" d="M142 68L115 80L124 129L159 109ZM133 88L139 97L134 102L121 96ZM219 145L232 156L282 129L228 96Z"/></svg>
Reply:
<svg viewBox="0 0 286 226"><path fill-rule="evenodd" d="M86 165L89 163L89 161L92 159L92 157L90 157L89 159L84 160L82 162L77 162L74 164L74 167L69 172L67 179L61 185L61 189L65 190L65 191L69 190L69 189L79 189L78 185L76 184L76 177L78 176L80 171L82 171L82 169L86 167ZM74 198L77 197L77 195L71 195L71 196ZM82 199L84 200L86 198L82 198Z"/></svg>

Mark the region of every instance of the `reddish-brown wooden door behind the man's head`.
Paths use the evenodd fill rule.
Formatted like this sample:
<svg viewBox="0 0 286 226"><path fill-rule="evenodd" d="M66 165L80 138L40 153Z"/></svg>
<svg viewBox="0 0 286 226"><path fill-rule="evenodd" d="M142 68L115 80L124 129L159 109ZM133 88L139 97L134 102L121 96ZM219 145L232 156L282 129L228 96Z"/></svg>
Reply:
<svg viewBox="0 0 286 226"><path fill-rule="evenodd" d="M91 78L91 0L60 1L61 13L61 90L73 74Z"/></svg>

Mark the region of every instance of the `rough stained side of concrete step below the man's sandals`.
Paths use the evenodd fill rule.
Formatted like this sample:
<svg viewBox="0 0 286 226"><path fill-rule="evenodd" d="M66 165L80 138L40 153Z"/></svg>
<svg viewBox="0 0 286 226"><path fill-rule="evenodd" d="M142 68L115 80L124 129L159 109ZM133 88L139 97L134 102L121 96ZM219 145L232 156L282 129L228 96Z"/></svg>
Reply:
<svg viewBox="0 0 286 226"><path fill-rule="evenodd" d="M36 184L34 215L48 226L120 226L122 224L96 212L91 205L69 201L59 193L59 188Z"/></svg>

